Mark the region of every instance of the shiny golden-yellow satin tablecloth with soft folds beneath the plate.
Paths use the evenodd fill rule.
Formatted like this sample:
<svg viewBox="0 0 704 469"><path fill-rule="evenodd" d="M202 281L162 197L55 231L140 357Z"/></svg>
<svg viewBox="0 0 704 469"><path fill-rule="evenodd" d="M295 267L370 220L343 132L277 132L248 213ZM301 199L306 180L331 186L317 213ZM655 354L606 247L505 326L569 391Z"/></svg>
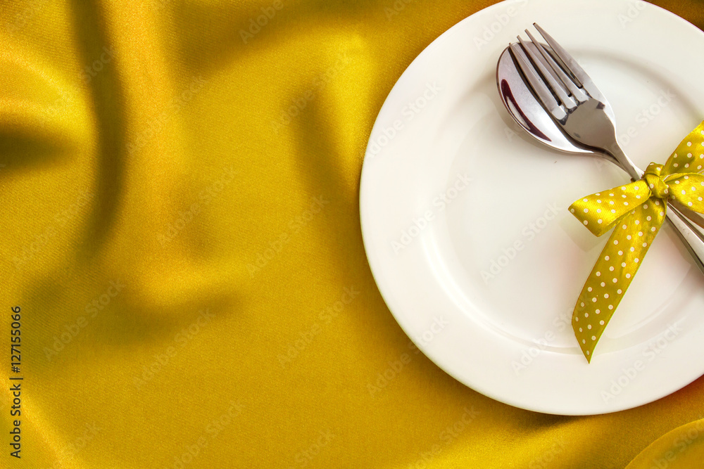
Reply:
<svg viewBox="0 0 704 469"><path fill-rule="evenodd" d="M2 1L1 467L704 467L704 380L515 409L410 347L372 280L375 117L492 3Z"/></svg>

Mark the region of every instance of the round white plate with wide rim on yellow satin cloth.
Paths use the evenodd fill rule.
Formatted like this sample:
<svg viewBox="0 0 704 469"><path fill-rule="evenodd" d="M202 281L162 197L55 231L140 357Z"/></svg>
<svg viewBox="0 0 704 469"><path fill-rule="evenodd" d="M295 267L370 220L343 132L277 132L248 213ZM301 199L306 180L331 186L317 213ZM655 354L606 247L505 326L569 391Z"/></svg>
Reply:
<svg viewBox="0 0 704 469"><path fill-rule="evenodd" d="M587 364L570 318L606 238L567 207L627 178L510 120L496 62L534 21L610 99L640 167L704 118L704 34L676 15L626 0L496 4L436 39L386 99L362 172L365 249L398 323L460 382L533 411L629 409L704 373L704 276L665 226Z"/></svg>

